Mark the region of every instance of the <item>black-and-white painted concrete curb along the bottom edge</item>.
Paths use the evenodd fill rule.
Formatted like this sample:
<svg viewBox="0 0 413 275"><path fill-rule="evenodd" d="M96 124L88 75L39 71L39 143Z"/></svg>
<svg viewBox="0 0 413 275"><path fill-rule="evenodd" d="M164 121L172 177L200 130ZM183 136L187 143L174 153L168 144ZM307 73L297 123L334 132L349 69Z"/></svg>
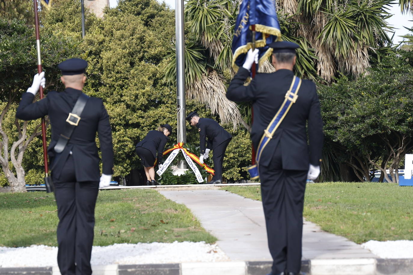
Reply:
<svg viewBox="0 0 413 275"><path fill-rule="evenodd" d="M93 266L93 275L265 275L271 261L160 263ZM301 262L307 275L411 275L413 259L314 259ZM0 268L0 275L60 275L59 268Z"/></svg>

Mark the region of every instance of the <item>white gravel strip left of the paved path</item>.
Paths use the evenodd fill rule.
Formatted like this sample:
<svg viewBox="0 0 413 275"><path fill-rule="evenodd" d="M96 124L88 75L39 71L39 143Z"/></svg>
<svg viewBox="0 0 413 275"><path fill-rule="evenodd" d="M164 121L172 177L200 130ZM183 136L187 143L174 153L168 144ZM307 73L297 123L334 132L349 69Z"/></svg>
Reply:
<svg viewBox="0 0 413 275"><path fill-rule="evenodd" d="M216 262L230 259L216 244L152 242L94 246L92 266L109 264ZM57 266L57 247L0 247L0 267Z"/></svg>

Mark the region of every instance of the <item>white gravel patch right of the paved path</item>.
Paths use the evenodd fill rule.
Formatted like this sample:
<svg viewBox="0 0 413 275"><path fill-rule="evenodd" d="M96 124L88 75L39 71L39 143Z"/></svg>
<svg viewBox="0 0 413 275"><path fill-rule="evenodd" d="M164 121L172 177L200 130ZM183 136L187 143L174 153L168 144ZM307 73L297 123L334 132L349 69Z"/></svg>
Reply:
<svg viewBox="0 0 413 275"><path fill-rule="evenodd" d="M363 248L369 249L373 254L383 259L408 259L413 258L413 241L373 241L361 244Z"/></svg>

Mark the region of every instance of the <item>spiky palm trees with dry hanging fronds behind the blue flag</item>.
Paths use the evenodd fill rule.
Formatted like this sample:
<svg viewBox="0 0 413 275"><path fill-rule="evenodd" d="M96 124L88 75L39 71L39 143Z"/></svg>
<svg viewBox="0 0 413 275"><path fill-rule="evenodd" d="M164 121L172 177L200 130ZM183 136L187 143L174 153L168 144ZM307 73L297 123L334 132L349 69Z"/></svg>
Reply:
<svg viewBox="0 0 413 275"><path fill-rule="evenodd" d="M380 57L391 40L385 30L391 0L277 0L283 40L300 44L297 75L332 82L339 74L358 77L368 68L370 54ZM411 6L412 0L410 0ZM237 16L235 0L188 0L186 21L186 92L211 107L222 122L242 123L237 106L225 98L231 67L231 42ZM404 4L406 5L406 4ZM410 7L408 6L408 7ZM175 79L175 54L170 55L167 82ZM266 61L262 72L273 71Z"/></svg>

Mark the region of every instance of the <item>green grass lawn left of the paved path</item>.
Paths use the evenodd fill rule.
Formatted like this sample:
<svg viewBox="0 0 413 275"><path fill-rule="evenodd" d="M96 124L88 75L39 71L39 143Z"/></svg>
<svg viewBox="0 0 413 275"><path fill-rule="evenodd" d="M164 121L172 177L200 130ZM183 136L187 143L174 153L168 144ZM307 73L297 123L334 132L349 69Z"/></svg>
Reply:
<svg viewBox="0 0 413 275"><path fill-rule="evenodd" d="M52 193L0 193L0 246L57 246L57 207ZM99 191L93 245L217 239L183 204L155 190Z"/></svg>

